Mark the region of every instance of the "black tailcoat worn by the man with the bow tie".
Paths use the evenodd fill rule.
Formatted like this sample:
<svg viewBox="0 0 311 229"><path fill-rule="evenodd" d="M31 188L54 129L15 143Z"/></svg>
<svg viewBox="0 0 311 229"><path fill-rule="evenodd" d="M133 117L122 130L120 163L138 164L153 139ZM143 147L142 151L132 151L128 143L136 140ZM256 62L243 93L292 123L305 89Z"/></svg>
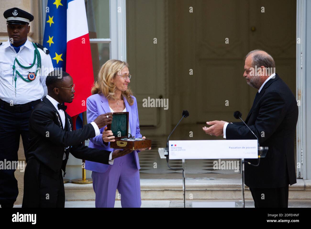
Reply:
<svg viewBox="0 0 311 229"><path fill-rule="evenodd" d="M26 162L35 157L40 163L59 174L66 171L69 152L76 158L109 164L110 151L83 146L86 139L95 137L91 123L72 131L72 119L65 112L65 130L59 113L46 97L38 103L29 120L29 147ZM64 153L66 154L63 160Z"/></svg>

